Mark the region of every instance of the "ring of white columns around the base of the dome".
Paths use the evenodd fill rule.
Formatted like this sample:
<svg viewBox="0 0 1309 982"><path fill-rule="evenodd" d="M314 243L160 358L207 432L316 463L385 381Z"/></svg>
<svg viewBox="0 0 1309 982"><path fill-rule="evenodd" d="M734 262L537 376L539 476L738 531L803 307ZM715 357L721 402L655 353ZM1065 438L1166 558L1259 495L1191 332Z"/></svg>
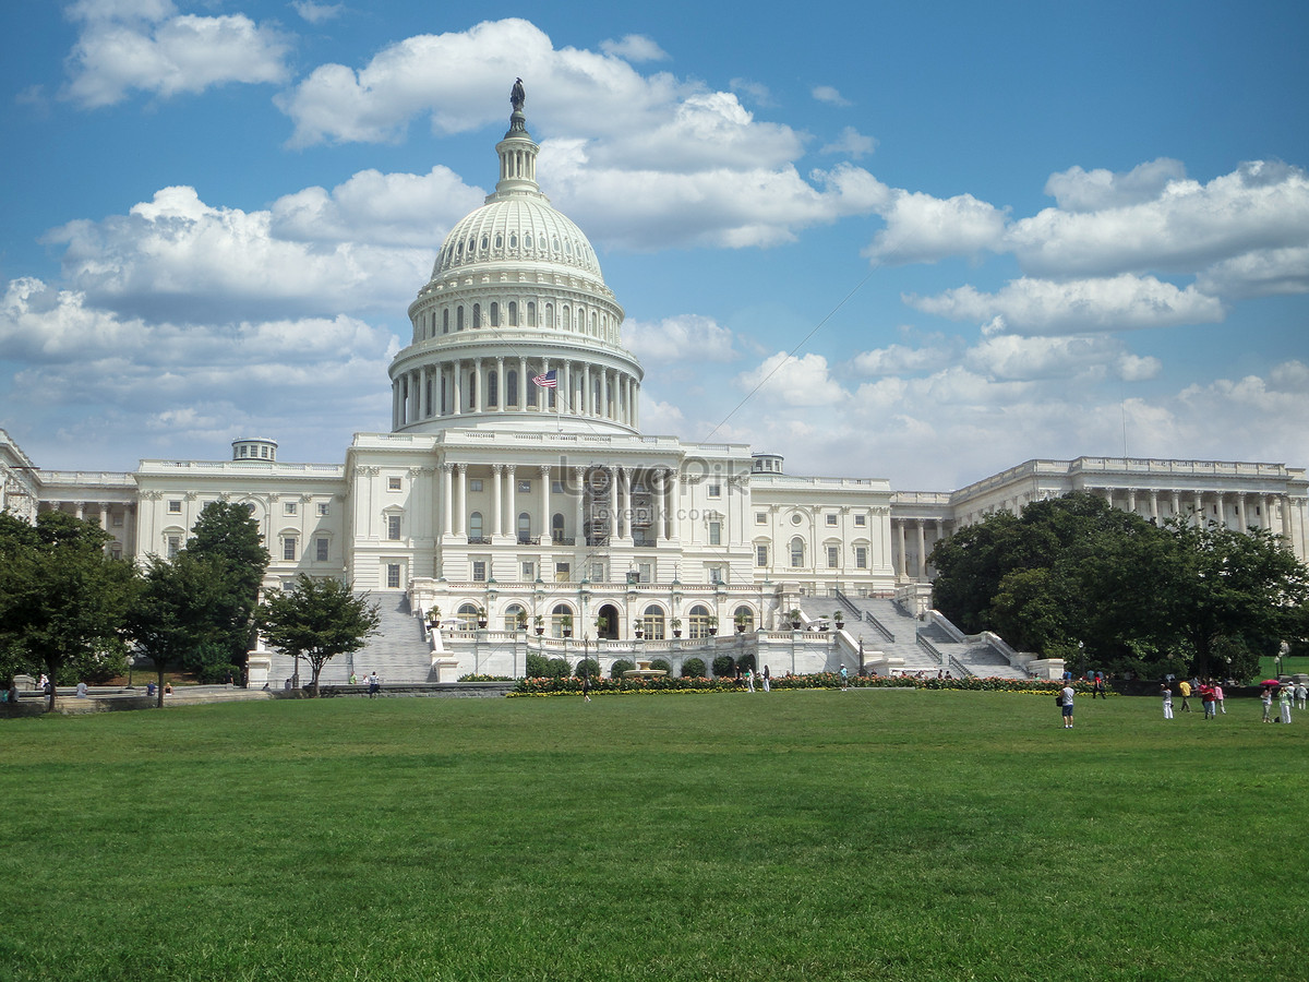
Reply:
<svg viewBox="0 0 1309 982"><path fill-rule="evenodd" d="M555 372L555 388L537 376ZM465 414L562 412L640 428L640 382L617 368L586 361L504 355L450 359L391 380L391 429Z"/></svg>

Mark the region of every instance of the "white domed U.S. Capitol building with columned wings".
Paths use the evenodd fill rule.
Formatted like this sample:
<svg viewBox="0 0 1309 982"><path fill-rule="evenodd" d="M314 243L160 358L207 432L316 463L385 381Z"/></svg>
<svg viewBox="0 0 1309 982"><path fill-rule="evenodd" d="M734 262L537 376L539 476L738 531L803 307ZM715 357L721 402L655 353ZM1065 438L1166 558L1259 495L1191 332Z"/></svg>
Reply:
<svg viewBox="0 0 1309 982"><path fill-rule="evenodd" d="M1305 471L1282 464L1033 460L922 492L787 474L781 456L749 445L644 435L623 308L586 236L541 192L537 152L518 103L496 144L495 192L454 225L408 308L412 336L390 365L391 432L356 433L343 464L287 464L275 440L242 439L230 461L64 473L41 470L0 431L0 508L75 512L118 555L168 556L206 503L245 504L272 554L267 585L309 573L373 592L412 614L403 630L419 668L391 672L423 674L429 655L441 677L522 674L524 652L554 653L569 627L568 653L586 640L594 656L598 643L602 661L677 661L775 634L789 660L759 648L774 672L853 668L860 640L865 660L877 642L884 669L949 668L940 646L918 646L920 663L882 656L895 630L890 605L874 604L923 614L939 539L1073 490L1145 517L1268 529L1306 556ZM791 631L792 610L808 627L834 608L857 631ZM437 609L444 627L429 632ZM369 669L365 656L355 665ZM275 681L280 668L268 669Z"/></svg>

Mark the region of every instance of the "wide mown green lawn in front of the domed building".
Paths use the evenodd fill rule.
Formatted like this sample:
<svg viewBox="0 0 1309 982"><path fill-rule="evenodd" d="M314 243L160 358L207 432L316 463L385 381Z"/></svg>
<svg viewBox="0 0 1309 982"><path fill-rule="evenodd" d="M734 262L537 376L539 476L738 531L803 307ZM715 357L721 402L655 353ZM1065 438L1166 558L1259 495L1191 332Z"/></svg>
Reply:
<svg viewBox="0 0 1309 982"><path fill-rule="evenodd" d="M1304 979L1309 715L925 691L0 721L4 979Z"/></svg>

